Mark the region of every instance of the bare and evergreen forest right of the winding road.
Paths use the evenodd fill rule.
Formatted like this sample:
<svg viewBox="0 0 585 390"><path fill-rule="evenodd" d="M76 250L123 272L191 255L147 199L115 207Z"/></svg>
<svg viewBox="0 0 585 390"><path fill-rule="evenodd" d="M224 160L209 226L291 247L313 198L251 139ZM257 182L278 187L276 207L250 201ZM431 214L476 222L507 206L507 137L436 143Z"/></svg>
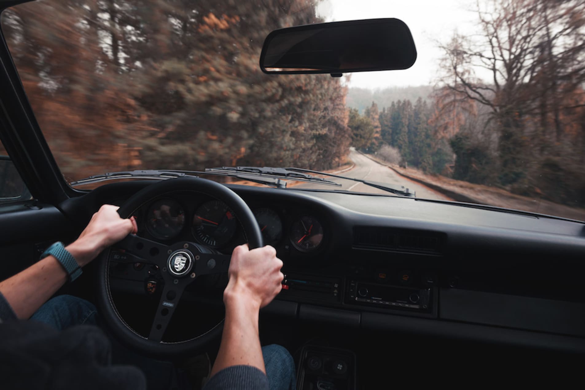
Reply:
<svg viewBox="0 0 585 390"><path fill-rule="evenodd" d="M350 109L353 144L393 148L426 172L585 205L585 2L490 0L476 16L479 34L439 44L429 103Z"/></svg>

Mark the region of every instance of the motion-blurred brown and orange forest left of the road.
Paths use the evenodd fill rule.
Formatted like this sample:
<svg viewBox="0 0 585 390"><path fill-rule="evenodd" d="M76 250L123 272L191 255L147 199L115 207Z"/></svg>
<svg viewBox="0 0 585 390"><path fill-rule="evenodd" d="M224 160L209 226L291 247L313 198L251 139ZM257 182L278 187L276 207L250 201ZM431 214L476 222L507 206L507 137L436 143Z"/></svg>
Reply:
<svg viewBox="0 0 585 390"><path fill-rule="evenodd" d="M266 75L272 30L312 0L53 0L2 13L40 128L68 181L108 171L345 161L346 88Z"/></svg>

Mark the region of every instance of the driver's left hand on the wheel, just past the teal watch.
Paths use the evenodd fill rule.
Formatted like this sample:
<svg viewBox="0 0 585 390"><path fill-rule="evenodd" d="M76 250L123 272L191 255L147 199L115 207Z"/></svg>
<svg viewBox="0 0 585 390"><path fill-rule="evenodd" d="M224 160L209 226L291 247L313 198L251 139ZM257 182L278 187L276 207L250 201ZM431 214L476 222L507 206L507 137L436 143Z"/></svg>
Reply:
<svg viewBox="0 0 585 390"><path fill-rule="evenodd" d="M123 219L118 214L118 209L118 206L102 205L91 217L79 238L67 246L80 267L90 263L101 251L128 234L137 232L134 217Z"/></svg>

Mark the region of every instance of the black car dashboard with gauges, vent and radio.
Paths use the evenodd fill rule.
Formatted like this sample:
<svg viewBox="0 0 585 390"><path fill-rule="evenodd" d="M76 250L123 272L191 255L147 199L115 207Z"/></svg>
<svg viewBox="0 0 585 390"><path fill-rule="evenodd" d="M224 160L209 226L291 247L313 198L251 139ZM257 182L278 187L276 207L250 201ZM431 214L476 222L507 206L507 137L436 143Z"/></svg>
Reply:
<svg viewBox="0 0 585 390"><path fill-rule="evenodd" d="M66 211L82 218L148 184L104 185ZM266 315L585 352L582 222L397 196L228 187L253 210L284 262L283 290ZM139 235L161 242L190 240L229 253L246 241L237 216L197 192L154 199L136 218ZM112 290L148 295L156 273L140 264L113 267ZM215 307L221 319L226 282L201 281L205 286L184 298Z"/></svg>

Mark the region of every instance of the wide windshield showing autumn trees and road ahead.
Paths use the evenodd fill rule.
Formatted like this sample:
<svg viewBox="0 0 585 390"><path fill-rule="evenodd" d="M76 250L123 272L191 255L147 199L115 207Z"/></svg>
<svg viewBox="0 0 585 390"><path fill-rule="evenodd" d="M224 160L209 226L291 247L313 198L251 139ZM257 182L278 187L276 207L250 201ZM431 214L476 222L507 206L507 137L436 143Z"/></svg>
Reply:
<svg viewBox="0 0 585 390"><path fill-rule="evenodd" d="M411 29L418 59L408 70L260 71L274 29L386 17ZM552 0L41 0L2 13L68 182L299 167L581 220L584 22L582 1Z"/></svg>

